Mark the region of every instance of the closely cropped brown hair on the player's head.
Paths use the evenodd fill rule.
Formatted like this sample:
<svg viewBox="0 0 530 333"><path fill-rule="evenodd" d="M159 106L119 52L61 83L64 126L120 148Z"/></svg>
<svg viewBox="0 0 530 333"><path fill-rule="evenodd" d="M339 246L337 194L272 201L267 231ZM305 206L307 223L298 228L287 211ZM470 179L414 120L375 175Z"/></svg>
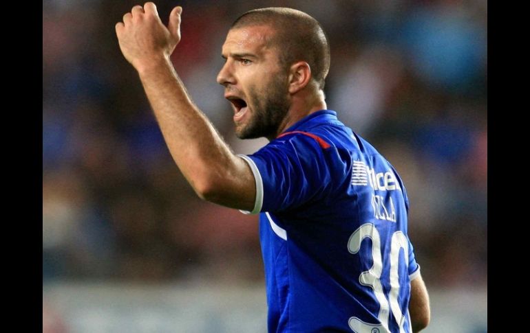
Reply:
<svg viewBox="0 0 530 333"><path fill-rule="evenodd" d="M320 23L309 14L292 8L269 7L250 10L232 23L230 29L253 25L271 25L273 45L280 51L283 65L306 61L319 89L330 69L330 45Z"/></svg>

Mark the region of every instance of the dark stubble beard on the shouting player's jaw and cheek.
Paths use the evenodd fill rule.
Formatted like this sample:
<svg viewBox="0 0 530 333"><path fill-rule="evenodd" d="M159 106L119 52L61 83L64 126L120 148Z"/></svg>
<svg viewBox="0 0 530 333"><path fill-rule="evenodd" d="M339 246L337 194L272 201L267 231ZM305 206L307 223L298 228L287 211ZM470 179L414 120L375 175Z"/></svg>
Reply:
<svg viewBox="0 0 530 333"><path fill-rule="evenodd" d="M258 93L250 89L249 101L253 101L252 114L246 124L236 126L235 135L240 139L257 139L258 137L274 137L285 119L290 102L287 91L282 89L282 78L268 84L269 89ZM250 106L250 104L248 104Z"/></svg>

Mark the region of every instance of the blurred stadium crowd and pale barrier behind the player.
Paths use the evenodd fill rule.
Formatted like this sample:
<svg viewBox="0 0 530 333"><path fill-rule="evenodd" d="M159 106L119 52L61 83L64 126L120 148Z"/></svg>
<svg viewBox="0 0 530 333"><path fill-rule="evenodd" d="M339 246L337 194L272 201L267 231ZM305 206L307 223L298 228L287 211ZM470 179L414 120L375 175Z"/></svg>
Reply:
<svg viewBox="0 0 530 333"><path fill-rule="evenodd" d="M114 25L133 1L43 0L43 332L266 332L257 217L198 199ZM487 332L487 1L156 1L184 8L173 62L238 153L215 76L242 12L308 12L330 37L328 107L410 196L425 332Z"/></svg>

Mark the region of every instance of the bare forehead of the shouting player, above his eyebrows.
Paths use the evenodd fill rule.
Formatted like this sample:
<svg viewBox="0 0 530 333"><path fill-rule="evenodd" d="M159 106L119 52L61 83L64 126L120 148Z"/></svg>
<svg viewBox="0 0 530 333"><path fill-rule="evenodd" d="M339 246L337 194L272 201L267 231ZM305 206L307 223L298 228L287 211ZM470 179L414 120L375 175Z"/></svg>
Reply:
<svg viewBox="0 0 530 333"><path fill-rule="evenodd" d="M249 25L229 30L222 46L223 56L240 53L259 54L271 48L274 30L270 25Z"/></svg>

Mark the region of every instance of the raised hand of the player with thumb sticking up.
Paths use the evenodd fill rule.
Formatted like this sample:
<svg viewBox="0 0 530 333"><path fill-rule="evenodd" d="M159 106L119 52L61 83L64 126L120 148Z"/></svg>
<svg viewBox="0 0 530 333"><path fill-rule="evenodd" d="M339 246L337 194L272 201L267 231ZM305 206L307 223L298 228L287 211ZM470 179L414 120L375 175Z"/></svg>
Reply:
<svg viewBox="0 0 530 333"><path fill-rule="evenodd" d="M147 2L142 7L135 5L131 12L123 15L123 22L116 23L116 36L123 56L136 70L167 60L180 42L180 14L177 6L169 14L167 27L160 21L156 5Z"/></svg>

